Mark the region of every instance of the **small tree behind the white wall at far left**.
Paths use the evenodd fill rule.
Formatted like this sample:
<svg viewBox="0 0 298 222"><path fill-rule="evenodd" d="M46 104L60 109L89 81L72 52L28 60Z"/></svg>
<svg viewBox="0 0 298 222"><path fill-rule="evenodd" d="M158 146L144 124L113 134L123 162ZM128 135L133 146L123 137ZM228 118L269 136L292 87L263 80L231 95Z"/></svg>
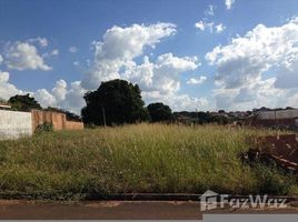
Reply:
<svg viewBox="0 0 298 222"><path fill-rule="evenodd" d="M8 101L13 110L31 111L32 109L41 110L41 105L34 98L28 94L17 94L11 97Z"/></svg>

